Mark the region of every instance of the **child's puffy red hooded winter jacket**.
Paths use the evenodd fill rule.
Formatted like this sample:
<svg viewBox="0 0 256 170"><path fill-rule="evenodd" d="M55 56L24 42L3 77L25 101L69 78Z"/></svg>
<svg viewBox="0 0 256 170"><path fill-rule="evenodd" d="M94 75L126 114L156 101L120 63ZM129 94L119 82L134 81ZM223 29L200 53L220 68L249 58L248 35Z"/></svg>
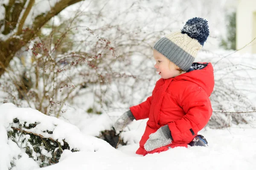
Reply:
<svg viewBox="0 0 256 170"><path fill-rule="evenodd" d="M160 78L146 101L130 107L136 120L149 118L137 154L145 156L168 150L168 147L187 147L209 121L212 115L209 96L214 87L213 67L211 63L193 63L192 66L195 70L175 78ZM144 144L149 135L166 124L171 131L172 143L147 152Z"/></svg>

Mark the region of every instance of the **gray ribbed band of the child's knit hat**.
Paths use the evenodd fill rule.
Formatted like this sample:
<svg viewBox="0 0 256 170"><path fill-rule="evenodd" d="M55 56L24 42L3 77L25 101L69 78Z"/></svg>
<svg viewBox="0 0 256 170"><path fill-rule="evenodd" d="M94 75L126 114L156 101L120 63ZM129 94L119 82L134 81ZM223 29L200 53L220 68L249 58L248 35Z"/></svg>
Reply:
<svg viewBox="0 0 256 170"><path fill-rule="evenodd" d="M195 58L173 43L166 37L161 38L154 45L154 49L166 56L170 61L175 63L180 69L188 71Z"/></svg>

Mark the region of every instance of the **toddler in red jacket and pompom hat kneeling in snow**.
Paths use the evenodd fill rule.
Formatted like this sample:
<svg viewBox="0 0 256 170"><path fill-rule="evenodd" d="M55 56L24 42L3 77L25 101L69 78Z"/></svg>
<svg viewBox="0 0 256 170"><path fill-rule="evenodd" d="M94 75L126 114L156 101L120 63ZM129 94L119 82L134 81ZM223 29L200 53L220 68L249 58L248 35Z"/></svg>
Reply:
<svg viewBox="0 0 256 170"><path fill-rule="evenodd" d="M211 63L193 63L209 35L207 20L194 17L180 32L154 45L154 67L161 76L152 95L130 107L114 124L121 131L131 121L149 118L137 154L159 153L174 147L206 146L198 131L212 115L214 87Z"/></svg>

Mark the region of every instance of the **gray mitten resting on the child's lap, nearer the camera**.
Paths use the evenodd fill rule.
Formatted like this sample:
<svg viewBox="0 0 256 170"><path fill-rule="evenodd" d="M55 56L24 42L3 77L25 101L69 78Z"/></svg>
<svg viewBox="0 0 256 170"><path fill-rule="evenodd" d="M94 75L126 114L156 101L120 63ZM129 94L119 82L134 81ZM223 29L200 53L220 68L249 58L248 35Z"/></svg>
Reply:
<svg viewBox="0 0 256 170"><path fill-rule="evenodd" d="M146 151L151 151L159 147L172 143L172 136L168 125L160 127L155 133L149 135L148 140L144 144Z"/></svg>

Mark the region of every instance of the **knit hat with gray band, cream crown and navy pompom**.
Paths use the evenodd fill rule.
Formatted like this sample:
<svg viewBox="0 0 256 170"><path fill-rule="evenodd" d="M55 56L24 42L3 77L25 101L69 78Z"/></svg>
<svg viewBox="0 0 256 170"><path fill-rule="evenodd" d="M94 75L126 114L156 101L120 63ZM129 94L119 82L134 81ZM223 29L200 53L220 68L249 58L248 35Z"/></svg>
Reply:
<svg viewBox="0 0 256 170"><path fill-rule="evenodd" d="M208 35L207 20L194 17L186 22L181 32L173 32L158 40L154 49L187 72Z"/></svg>

